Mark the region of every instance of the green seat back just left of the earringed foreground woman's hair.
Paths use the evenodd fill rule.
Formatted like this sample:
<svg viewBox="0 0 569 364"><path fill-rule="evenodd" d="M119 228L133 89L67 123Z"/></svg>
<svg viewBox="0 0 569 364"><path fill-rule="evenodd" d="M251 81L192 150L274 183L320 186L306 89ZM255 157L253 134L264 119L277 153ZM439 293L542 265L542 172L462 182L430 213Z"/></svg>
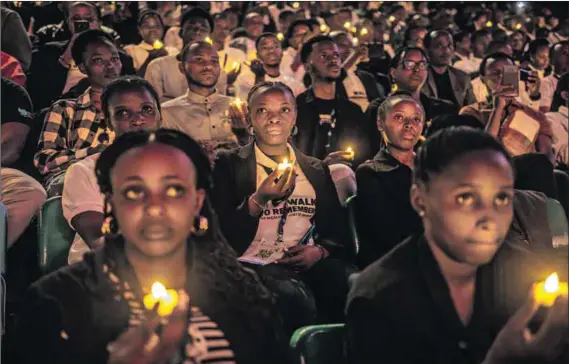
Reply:
<svg viewBox="0 0 569 364"><path fill-rule="evenodd" d="M41 207L38 224L39 266L47 274L67 265L75 231L63 217L61 196L49 198Z"/></svg>

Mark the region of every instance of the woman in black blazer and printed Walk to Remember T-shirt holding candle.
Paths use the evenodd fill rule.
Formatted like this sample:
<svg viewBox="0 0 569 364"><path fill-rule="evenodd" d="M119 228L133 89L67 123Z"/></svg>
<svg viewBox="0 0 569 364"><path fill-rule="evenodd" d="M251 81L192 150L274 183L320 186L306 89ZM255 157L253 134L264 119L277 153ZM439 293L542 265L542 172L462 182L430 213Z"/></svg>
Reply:
<svg viewBox="0 0 569 364"><path fill-rule="evenodd" d="M289 144L297 112L288 86L259 83L247 104L255 141L219 154L214 170L222 231L277 293L288 332L314 322L312 294L320 321L340 322L353 252L330 170Z"/></svg>

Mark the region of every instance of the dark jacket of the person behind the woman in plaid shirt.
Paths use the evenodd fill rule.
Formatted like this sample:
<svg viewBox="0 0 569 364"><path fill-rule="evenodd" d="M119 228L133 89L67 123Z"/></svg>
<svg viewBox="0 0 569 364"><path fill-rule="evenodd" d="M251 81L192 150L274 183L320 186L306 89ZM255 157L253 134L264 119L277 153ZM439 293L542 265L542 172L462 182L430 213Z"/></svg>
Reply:
<svg viewBox="0 0 569 364"><path fill-rule="evenodd" d="M62 96L65 83L67 82L68 69L59 63L59 57L65 52L69 41L51 42L35 50L32 55L32 67L28 76L28 92L32 98L34 109L41 110L51 106L55 101L64 98ZM132 57L119 50L122 63L122 75L135 75ZM71 98L81 95L89 87L89 82L80 81Z"/></svg>

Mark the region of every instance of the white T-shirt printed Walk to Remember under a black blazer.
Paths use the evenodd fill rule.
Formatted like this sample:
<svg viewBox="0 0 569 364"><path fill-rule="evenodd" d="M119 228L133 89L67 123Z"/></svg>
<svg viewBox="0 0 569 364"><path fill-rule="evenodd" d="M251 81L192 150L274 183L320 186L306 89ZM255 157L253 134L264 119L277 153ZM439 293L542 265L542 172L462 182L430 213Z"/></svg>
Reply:
<svg viewBox="0 0 569 364"><path fill-rule="evenodd" d="M294 150L289 146L289 160L296 161ZM268 177L264 167L271 170L277 168L277 163L267 157L255 145L255 158L257 159L257 188ZM272 202L267 204L259 218L259 226L255 238L245 253L239 258L242 262L265 265L282 258L284 248L296 246L312 228L311 219L316 213L316 192L302 173L296 168L296 184L294 191L276 206ZM286 222L284 224L283 242L277 242L277 231L282 219L284 209L287 209ZM314 242L310 240L308 244Z"/></svg>

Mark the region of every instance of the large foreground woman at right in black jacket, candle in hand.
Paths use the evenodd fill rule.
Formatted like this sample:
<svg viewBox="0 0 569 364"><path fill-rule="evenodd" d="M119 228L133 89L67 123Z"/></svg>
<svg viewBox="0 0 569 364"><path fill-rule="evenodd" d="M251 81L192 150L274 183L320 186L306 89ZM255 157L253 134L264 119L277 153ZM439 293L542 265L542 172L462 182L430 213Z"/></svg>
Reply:
<svg viewBox="0 0 569 364"><path fill-rule="evenodd" d="M352 362L566 359L560 357L569 333L566 295L537 331L528 329L539 307L532 282L547 270L566 274L566 257L544 270L537 254L502 244L514 194L504 147L480 130L441 130L419 149L413 178L411 203L425 233L405 240L355 282L347 306ZM512 301L507 310L503 300Z"/></svg>

